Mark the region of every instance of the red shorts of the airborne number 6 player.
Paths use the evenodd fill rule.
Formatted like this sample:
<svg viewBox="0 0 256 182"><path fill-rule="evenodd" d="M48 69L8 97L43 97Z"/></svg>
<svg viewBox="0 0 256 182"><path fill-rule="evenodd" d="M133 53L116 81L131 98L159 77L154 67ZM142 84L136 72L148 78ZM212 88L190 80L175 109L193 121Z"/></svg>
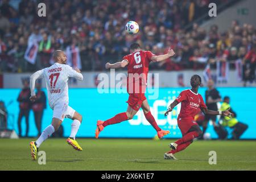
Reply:
<svg viewBox="0 0 256 182"><path fill-rule="evenodd" d="M126 101L133 110L139 110L142 102L146 100L144 93L130 93L128 101Z"/></svg>

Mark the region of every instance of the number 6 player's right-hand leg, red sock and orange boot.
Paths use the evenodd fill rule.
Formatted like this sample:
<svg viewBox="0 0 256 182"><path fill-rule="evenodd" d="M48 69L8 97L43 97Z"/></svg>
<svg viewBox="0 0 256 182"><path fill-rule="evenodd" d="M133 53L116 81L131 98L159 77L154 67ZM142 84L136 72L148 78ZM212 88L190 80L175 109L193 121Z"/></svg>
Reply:
<svg viewBox="0 0 256 182"><path fill-rule="evenodd" d="M143 110L145 118L154 127L154 129L158 133L158 138L163 138L165 135L170 133L170 131L168 131L168 130L160 129L160 127L158 126L158 124L155 121L154 116L150 112L150 106L148 105L147 100L144 100L142 102L142 106L141 107L142 107L142 110Z"/></svg>

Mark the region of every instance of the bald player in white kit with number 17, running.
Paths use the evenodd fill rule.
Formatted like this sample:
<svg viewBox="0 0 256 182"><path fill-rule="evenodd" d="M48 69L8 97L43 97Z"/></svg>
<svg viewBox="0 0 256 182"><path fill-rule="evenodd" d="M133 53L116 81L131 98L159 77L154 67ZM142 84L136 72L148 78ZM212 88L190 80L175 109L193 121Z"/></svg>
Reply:
<svg viewBox="0 0 256 182"><path fill-rule="evenodd" d="M30 150L33 160L36 160L36 154L40 144L49 138L53 132L59 129L65 117L73 119L71 125L71 134L67 139L68 144L71 144L71 146L78 151L82 150L75 140L77 131L79 130L82 122L82 116L68 105L68 78L75 77L77 80L82 80L83 76L78 68L73 69L66 64L67 56L63 51L55 51L53 53L53 60L55 60L55 64L53 64L51 67L41 69L30 77L30 100L36 100L35 81L38 78L44 78L46 80L48 102L53 110L51 125L44 129L38 140L35 142L30 142Z"/></svg>

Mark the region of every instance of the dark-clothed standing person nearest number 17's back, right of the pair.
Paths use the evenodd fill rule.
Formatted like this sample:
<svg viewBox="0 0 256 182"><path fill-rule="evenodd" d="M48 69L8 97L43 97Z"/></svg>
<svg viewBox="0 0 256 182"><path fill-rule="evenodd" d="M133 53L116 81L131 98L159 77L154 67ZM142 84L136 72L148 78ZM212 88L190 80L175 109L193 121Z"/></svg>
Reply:
<svg viewBox="0 0 256 182"><path fill-rule="evenodd" d="M32 110L34 112L36 129L38 129L38 136L40 136L43 112L46 109L46 94L41 90L42 80L38 80L35 86L37 89L36 100L32 103Z"/></svg>

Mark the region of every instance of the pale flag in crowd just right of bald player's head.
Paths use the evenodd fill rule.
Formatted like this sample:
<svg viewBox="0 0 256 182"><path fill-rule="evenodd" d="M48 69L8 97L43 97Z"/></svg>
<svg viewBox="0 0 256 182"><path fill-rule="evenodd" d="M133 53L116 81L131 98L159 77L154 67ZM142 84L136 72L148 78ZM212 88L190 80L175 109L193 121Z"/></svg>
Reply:
<svg viewBox="0 0 256 182"><path fill-rule="evenodd" d="M79 48L76 46L68 46L66 53L68 59L67 64L72 68L82 69Z"/></svg>

